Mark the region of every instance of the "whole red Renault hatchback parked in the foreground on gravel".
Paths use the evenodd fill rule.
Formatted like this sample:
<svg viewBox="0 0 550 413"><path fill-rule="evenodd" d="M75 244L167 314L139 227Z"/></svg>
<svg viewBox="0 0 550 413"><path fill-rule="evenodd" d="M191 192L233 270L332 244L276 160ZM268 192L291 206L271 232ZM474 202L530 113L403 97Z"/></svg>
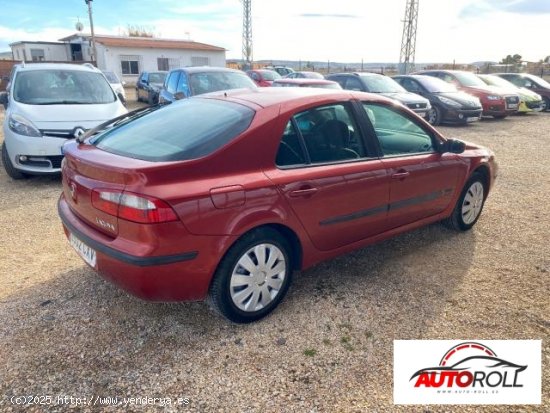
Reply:
<svg viewBox="0 0 550 413"><path fill-rule="evenodd" d="M208 297L239 323L296 269L441 220L472 228L496 176L490 150L361 92L228 91L129 117L64 146L70 244L131 294Z"/></svg>

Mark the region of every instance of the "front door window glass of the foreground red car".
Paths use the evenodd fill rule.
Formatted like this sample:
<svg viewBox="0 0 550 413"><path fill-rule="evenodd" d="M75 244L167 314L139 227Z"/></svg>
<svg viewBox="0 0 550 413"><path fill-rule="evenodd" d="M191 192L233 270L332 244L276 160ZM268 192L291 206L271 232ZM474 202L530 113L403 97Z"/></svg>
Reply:
<svg viewBox="0 0 550 413"><path fill-rule="evenodd" d="M384 156L435 152L433 138L395 108L363 103Z"/></svg>

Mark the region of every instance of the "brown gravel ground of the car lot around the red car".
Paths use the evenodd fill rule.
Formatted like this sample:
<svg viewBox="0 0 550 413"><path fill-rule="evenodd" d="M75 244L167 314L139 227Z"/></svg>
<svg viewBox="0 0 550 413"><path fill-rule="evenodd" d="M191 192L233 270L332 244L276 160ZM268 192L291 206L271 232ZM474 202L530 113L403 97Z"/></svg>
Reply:
<svg viewBox="0 0 550 413"><path fill-rule="evenodd" d="M550 114L441 129L500 163L474 230L432 225L318 265L248 326L113 288L64 237L59 178L0 168L0 410L60 395L189 398L167 411L550 411ZM543 339L543 405L396 407L394 339ZM46 410L67 406L27 411Z"/></svg>

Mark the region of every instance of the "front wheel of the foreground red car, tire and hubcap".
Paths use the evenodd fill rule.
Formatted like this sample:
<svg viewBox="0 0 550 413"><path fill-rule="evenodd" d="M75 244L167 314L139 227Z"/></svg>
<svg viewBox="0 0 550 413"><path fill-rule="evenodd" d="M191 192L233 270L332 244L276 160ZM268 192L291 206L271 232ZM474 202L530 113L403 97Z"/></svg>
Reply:
<svg viewBox="0 0 550 413"><path fill-rule="evenodd" d="M451 216L443 224L456 231L468 231L481 216L486 198L485 180L481 174L474 173L464 185Z"/></svg>

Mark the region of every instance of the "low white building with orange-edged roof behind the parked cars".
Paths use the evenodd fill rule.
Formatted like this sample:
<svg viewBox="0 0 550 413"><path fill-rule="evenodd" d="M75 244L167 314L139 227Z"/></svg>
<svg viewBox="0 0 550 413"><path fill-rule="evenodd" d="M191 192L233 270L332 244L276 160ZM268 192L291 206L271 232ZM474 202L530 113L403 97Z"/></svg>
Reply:
<svg viewBox="0 0 550 413"><path fill-rule="evenodd" d="M77 33L60 42L16 42L10 44L16 60L91 61L90 36ZM115 72L133 83L140 72L170 70L185 66L225 67L225 49L190 40L149 37L95 36L97 67Z"/></svg>

